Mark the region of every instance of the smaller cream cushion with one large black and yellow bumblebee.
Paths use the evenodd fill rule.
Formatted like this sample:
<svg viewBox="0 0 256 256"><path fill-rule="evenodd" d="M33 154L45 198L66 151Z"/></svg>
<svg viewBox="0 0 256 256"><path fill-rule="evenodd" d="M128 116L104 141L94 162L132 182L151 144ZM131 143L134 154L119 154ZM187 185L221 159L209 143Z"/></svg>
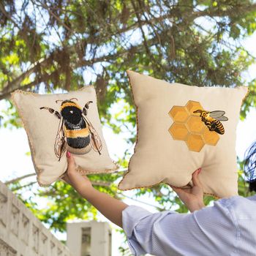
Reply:
<svg viewBox="0 0 256 256"><path fill-rule="evenodd" d="M40 186L64 175L67 151L74 155L82 174L110 173L118 168L102 135L94 86L66 94L16 90L12 102L26 129Z"/></svg>

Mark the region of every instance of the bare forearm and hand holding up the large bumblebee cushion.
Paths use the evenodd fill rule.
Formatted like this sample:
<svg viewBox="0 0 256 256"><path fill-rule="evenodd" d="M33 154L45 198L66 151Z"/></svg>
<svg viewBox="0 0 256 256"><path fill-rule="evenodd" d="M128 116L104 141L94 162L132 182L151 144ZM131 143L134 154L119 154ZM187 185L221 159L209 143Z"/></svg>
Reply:
<svg viewBox="0 0 256 256"><path fill-rule="evenodd" d="M69 153L69 152L68 152ZM67 153L67 175L64 181L72 185L77 192L97 208L106 218L122 227L122 211L127 208L127 204L121 200L110 197L110 195L99 192L91 185L91 181L86 176L81 176L75 170L75 159L72 154Z"/></svg>

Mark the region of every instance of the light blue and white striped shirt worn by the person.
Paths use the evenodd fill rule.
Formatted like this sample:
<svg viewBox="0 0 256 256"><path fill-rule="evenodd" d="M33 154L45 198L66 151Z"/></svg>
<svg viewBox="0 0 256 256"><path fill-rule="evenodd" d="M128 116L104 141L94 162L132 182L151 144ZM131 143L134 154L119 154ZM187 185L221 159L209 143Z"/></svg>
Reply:
<svg viewBox="0 0 256 256"><path fill-rule="evenodd" d="M256 195L225 197L191 214L140 206L122 211L132 255L256 255Z"/></svg>

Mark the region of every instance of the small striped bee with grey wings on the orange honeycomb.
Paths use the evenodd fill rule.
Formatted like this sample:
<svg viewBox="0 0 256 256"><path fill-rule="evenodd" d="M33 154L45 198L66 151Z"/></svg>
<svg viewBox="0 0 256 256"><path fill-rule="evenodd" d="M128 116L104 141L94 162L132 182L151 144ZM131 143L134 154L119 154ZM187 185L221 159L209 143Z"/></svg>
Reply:
<svg viewBox="0 0 256 256"><path fill-rule="evenodd" d="M195 110L193 113L200 113L202 121L206 124L210 131L218 132L220 135L223 135L225 130L220 121L227 121L227 116L224 116L225 111L216 110L216 111L206 111L206 110Z"/></svg>

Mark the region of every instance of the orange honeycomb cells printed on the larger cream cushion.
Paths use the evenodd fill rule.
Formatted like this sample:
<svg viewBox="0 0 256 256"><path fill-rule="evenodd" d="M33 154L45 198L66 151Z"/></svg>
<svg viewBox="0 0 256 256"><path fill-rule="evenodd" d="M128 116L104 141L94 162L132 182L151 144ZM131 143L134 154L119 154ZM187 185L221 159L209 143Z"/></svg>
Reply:
<svg viewBox="0 0 256 256"><path fill-rule="evenodd" d="M189 151L200 152L203 146L216 146L219 141L217 132L209 131L195 110L203 110L200 102L189 100L185 106L173 106L169 116L173 124L169 128L173 140L184 140Z"/></svg>

